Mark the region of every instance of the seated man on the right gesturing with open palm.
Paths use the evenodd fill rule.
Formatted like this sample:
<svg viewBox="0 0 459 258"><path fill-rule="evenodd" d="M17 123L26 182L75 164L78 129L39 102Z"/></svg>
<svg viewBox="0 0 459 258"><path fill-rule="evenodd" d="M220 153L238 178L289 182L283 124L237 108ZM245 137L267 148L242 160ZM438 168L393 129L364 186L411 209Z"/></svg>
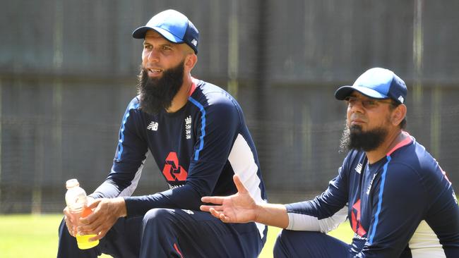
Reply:
<svg viewBox="0 0 459 258"><path fill-rule="evenodd" d="M341 147L349 153L315 199L258 203L234 176L238 193L203 197L217 205L201 209L225 222L286 228L274 257L459 257L458 201L436 160L403 130L406 95L405 82L383 68L335 92L347 104ZM347 217L351 245L325 234Z"/></svg>

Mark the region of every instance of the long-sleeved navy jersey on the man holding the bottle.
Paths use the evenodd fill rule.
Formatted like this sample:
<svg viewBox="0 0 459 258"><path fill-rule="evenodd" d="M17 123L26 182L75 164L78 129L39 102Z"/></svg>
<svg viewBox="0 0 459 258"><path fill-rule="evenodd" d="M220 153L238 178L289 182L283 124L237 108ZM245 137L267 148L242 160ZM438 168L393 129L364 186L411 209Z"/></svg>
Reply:
<svg viewBox="0 0 459 258"><path fill-rule="evenodd" d="M148 150L169 190L131 197ZM188 102L174 113L150 115L141 111L138 97L132 99L121 123L112 171L92 196L124 196L128 216L153 208L199 210L203 196L237 192L234 173L257 202L266 202L241 107L220 87L193 79ZM257 226L262 233L265 227Z"/></svg>

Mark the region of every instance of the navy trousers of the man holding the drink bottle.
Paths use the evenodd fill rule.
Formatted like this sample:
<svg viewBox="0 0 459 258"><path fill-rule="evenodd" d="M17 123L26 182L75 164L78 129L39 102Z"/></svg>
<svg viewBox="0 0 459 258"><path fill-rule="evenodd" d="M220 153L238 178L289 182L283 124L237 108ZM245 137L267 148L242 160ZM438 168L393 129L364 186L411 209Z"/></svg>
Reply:
<svg viewBox="0 0 459 258"><path fill-rule="evenodd" d="M222 223L203 211L151 209L143 217L121 218L97 247L80 250L67 231L59 226L57 257L258 257L266 242L255 223Z"/></svg>

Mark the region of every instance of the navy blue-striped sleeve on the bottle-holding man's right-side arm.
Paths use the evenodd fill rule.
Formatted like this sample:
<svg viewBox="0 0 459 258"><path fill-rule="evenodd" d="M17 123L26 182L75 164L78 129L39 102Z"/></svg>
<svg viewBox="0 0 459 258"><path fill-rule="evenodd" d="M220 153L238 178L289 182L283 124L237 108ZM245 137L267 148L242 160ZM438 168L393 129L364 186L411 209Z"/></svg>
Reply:
<svg viewBox="0 0 459 258"><path fill-rule="evenodd" d="M212 195L237 136L241 116L229 98L217 99L206 106L191 97L190 101L200 109L201 122L186 183L154 195L125 197L129 216L142 215L158 207L199 210L201 197Z"/></svg>

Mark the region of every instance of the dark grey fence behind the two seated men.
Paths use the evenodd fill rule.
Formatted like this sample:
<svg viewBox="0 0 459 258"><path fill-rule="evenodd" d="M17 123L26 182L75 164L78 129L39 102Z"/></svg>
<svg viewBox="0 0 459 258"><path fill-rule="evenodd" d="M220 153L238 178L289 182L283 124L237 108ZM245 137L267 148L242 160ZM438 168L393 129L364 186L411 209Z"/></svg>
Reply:
<svg viewBox="0 0 459 258"><path fill-rule="evenodd" d="M0 213L55 212L112 164L136 94L131 32L175 8L200 31L193 75L244 109L271 201L326 188L344 154L333 97L374 66L407 82L407 130L459 186L458 1L6 1L0 9ZM167 188L151 156L136 195Z"/></svg>

